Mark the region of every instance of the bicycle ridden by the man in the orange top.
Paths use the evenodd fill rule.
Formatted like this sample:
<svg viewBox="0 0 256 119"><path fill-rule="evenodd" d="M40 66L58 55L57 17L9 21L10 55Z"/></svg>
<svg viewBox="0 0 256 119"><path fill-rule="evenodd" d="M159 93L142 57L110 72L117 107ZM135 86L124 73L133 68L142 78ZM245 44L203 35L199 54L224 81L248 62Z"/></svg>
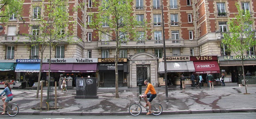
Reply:
<svg viewBox="0 0 256 119"><path fill-rule="evenodd" d="M149 112L149 108L143 106L143 104L141 103L141 95L139 95L138 97L138 101L134 101L135 103L130 105L129 107L129 113L133 116L137 116L139 115L141 112L142 112L142 108L146 108L147 112ZM136 98L137 100L137 98ZM160 115L162 114L163 112L163 107L161 105L161 103L154 103L154 104L151 104L151 111L152 111L152 114L153 115Z"/></svg>

